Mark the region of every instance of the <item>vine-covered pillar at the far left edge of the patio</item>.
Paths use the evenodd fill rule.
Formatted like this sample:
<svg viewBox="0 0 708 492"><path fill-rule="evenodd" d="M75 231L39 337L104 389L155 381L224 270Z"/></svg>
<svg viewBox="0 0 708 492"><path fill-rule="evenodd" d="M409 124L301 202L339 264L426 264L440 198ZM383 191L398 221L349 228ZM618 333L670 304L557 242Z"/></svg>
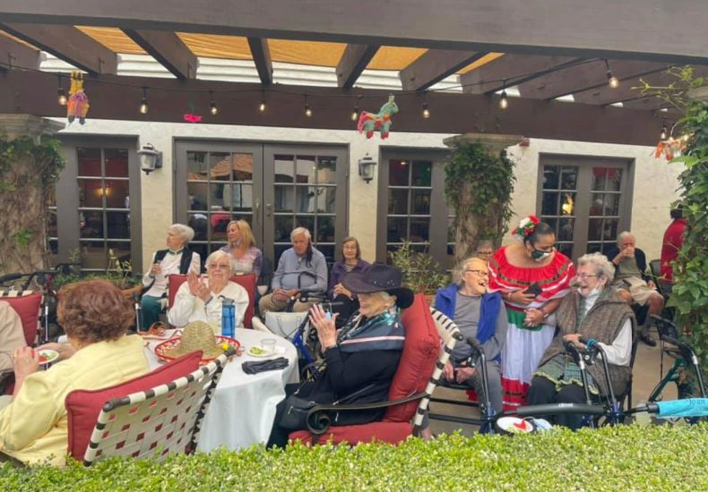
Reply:
<svg viewBox="0 0 708 492"><path fill-rule="evenodd" d="M0 134L0 271L45 266L48 202L64 165L57 140Z"/></svg>

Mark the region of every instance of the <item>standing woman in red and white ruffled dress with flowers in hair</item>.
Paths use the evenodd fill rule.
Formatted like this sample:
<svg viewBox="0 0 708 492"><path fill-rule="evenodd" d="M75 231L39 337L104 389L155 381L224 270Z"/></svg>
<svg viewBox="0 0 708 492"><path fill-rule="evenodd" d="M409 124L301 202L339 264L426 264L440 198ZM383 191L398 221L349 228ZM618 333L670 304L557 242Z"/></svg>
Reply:
<svg viewBox="0 0 708 492"><path fill-rule="evenodd" d="M553 229L538 217L524 217L512 234L519 242L496 250L489 261L489 290L502 293L509 322L502 352L505 410L526 402L531 374L553 340L553 312L575 276L573 262L555 249Z"/></svg>

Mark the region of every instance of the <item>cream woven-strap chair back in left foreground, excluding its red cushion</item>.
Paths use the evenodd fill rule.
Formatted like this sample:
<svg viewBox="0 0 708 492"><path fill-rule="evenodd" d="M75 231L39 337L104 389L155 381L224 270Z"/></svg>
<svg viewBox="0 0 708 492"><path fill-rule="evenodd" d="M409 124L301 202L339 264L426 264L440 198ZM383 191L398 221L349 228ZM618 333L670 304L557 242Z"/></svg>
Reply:
<svg viewBox="0 0 708 492"><path fill-rule="evenodd" d="M167 384L106 402L82 456L83 463L88 466L108 456L161 459L169 453L194 452L226 360L226 355L221 355ZM74 445L74 458L80 450Z"/></svg>

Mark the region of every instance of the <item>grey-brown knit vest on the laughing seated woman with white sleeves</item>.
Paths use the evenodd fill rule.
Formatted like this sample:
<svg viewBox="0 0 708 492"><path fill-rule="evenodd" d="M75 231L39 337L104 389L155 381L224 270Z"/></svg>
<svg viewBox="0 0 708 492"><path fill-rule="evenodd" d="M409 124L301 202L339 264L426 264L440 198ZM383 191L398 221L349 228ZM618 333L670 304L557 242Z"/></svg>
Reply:
<svg viewBox="0 0 708 492"><path fill-rule="evenodd" d="M625 324L627 318L632 320L632 340L635 339L635 314L627 306L625 301L622 301L617 293L610 293L609 297L600 296L600 299L595 302L591 310L589 310L580 327L577 327L578 310L580 308L580 294L571 293L566 295L561 301L558 310L556 311L556 319L558 322L558 334L553 340L553 343L548 346L541 358L539 367L547 361L555 357L557 354L565 352L563 347L563 335L580 333L587 338L594 338L598 342L606 345L611 345L617 335L619 335L622 325ZM612 380L612 389L615 394L618 394L626 389L629 382L629 376L632 369L628 366L615 366L608 364L609 377ZM607 382L605 381L605 373L602 369L602 361L598 359L592 365L588 366L588 372L592 375L600 388L601 394L608 394Z"/></svg>

